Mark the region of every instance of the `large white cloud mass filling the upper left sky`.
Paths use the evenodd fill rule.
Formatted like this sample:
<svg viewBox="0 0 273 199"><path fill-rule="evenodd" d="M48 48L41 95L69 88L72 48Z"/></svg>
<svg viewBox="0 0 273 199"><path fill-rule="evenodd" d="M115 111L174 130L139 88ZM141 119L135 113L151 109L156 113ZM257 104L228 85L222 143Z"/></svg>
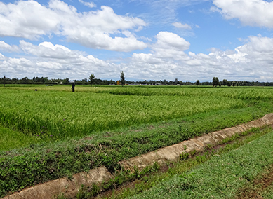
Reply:
<svg viewBox="0 0 273 199"><path fill-rule="evenodd" d="M147 47L133 34L124 34L128 30L139 31L146 23L140 18L116 15L108 6L78 13L76 8L60 0L49 1L48 6L30 0L15 4L0 2L0 21L0 36L33 40L55 34L89 48L125 52Z"/></svg>

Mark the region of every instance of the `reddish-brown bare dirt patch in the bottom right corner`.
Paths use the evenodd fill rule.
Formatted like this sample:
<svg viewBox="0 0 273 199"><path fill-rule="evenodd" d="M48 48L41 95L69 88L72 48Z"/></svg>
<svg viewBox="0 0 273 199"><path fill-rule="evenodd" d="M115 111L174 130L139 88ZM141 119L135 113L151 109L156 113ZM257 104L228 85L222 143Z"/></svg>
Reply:
<svg viewBox="0 0 273 199"><path fill-rule="evenodd" d="M255 179L251 186L247 186L245 188L240 188L238 191L237 199L243 199L243 198L262 198L260 193L264 191L267 186L272 185L273 183L273 165L261 175L261 177L258 177L258 179Z"/></svg>

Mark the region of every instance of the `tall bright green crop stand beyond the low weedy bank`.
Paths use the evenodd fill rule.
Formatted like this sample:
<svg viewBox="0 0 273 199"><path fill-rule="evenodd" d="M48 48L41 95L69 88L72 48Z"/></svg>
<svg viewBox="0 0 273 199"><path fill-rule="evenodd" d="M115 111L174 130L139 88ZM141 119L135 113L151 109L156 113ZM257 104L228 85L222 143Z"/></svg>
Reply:
<svg viewBox="0 0 273 199"><path fill-rule="evenodd" d="M208 89L205 93L196 89L156 89L151 92L149 88L141 89L124 89L135 95L111 94L119 93L119 89L103 89L100 90L102 93L0 89L0 123L36 136L74 137L248 106L240 97L225 96L222 92L225 90L216 95L214 90ZM139 92L151 95L140 95Z"/></svg>

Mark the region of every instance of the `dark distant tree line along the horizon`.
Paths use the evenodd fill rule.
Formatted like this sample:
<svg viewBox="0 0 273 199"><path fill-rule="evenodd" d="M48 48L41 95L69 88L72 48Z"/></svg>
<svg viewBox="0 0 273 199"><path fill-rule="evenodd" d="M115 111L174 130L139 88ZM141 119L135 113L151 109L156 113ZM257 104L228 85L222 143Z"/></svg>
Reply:
<svg viewBox="0 0 273 199"><path fill-rule="evenodd" d="M167 81L166 79L155 81L155 80L144 80L144 81L128 81L125 80L124 72L121 72L119 81L114 80L102 80L100 78L95 78L95 74L91 74L89 78L84 78L81 80L73 80L77 85L212 85L212 86L273 86L273 82L259 82L259 81L227 81L223 79L219 81L218 77L213 77L212 81L196 82L190 81L179 81L175 78L174 81ZM0 84L64 84L68 85L70 83L69 78L51 78L48 77L38 77L33 78L8 78L6 76L0 78Z"/></svg>

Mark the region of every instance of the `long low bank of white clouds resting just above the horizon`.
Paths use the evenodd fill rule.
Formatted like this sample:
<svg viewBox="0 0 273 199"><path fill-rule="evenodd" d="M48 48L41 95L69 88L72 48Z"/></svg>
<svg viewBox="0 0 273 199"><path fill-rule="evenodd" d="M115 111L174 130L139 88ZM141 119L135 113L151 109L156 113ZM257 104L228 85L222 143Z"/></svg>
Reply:
<svg viewBox="0 0 273 199"><path fill-rule="evenodd" d="M119 78L124 71L128 79L168 79L181 81L220 80L272 81L273 38L249 36L234 50L211 48L211 53L185 53L190 43L171 32L159 32L149 53L133 53L119 64L65 46L42 42L34 45L20 41L25 58L0 54L0 69L8 77L48 76L49 78ZM8 45L8 44L7 44ZM5 45L6 46L6 45Z"/></svg>

